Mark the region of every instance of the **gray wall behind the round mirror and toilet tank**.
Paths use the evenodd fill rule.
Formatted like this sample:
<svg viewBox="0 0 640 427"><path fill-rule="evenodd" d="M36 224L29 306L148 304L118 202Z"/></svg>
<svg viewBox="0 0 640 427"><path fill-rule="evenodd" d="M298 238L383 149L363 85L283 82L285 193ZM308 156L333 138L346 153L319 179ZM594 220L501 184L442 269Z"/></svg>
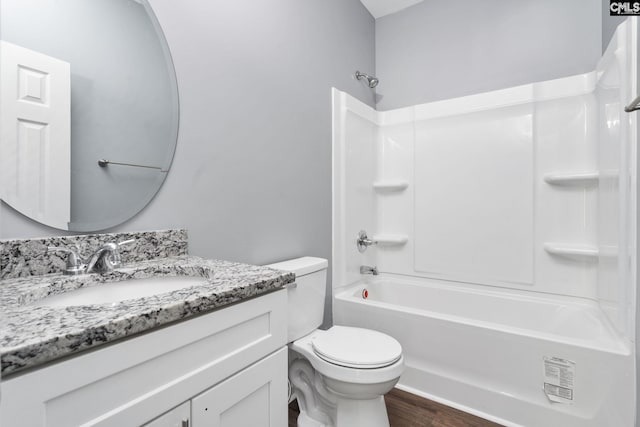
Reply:
<svg viewBox="0 0 640 427"><path fill-rule="evenodd" d="M181 121L156 198L114 230L185 227L190 252L331 258L331 86L373 105L374 20L358 0L151 0ZM0 206L0 238L62 234Z"/></svg>

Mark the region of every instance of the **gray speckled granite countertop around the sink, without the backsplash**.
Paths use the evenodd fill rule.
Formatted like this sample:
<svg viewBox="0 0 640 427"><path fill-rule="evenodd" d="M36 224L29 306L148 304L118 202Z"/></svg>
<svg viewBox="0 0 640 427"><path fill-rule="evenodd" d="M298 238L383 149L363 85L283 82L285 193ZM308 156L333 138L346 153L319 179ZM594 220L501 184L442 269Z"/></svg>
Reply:
<svg viewBox="0 0 640 427"><path fill-rule="evenodd" d="M154 276L195 276L202 283L164 294L85 306L34 306L84 286ZM52 274L0 281L2 375L76 354L281 288L293 273L228 261L175 256L104 275Z"/></svg>

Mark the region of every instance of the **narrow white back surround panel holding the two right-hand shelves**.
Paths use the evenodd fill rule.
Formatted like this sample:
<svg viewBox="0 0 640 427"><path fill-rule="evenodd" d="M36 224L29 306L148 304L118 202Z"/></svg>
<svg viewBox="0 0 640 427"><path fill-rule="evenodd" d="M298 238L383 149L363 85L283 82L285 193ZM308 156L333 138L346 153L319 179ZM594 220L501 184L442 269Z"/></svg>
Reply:
<svg viewBox="0 0 640 427"><path fill-rule="evenodd" d="M550 254L545 244L597 248L597 181L549 184L549 174L597 171L592 94L536 103L536 285L541 291L596 297L597 257Z"/></svg>

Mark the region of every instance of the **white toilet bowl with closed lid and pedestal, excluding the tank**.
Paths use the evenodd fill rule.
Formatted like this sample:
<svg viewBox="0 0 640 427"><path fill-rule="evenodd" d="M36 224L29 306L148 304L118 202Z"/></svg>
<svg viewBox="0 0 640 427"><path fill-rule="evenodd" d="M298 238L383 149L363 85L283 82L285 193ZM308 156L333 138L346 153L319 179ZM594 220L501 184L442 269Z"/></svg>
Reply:
<svg viewBox="0 0 640 427"><path fill-rule="evenodd" d="M313 389L300 387L304 379L297 375L294 366L289 370L298 406L309 412L315 404L329 421L298 422L299 427L389 426L383 396L395 386L404 370L402 348L396 340L368 329L334 326L327 331L315 330L291 343L289 348L301 355L318 376ZM358 356L363 350L371 351L360 363ZM298 392L301 389L306 392ZM310 393L314 394L311 399ZM331 404L320 404L318 395Z"/></svg>

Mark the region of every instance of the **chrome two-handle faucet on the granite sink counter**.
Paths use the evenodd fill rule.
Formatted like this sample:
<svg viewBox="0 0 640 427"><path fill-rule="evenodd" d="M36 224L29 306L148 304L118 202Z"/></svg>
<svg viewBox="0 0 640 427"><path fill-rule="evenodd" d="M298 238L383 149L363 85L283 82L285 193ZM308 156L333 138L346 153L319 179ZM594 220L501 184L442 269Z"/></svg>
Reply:
<svg viewBox="0 0 640 427"><path fill-rule="evenodd" d="M64 274L77 275L88 273L108 273L113 271L122 265L122 259L120 257L120 246L133 243L135 240L125 240L120 243L105 243L97 251L95 251L88 261L85 261L79 254L79 249L76 246L76 250L69 248L49 247L50 251L61 251L68 253L67 255L67 268Z"/></svg>

